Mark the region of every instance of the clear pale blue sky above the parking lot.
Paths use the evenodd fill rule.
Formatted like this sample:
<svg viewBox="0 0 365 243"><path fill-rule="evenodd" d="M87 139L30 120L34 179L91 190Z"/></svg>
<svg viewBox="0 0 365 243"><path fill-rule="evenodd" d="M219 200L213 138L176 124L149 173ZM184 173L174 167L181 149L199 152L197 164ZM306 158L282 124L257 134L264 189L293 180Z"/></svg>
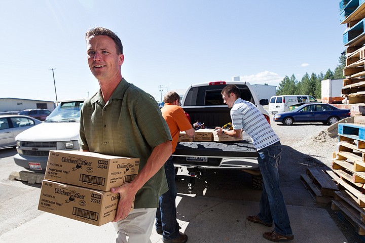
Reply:
<svg viewBox="0 0 365 243"><path fill-rule="evenodd" d="M333 0L2 1L0 98L91 96L98 83L85 32L121 38L122 76L160 101L167 90L232 80L277 86L295 74L334 71L346 47Z"/></svg>

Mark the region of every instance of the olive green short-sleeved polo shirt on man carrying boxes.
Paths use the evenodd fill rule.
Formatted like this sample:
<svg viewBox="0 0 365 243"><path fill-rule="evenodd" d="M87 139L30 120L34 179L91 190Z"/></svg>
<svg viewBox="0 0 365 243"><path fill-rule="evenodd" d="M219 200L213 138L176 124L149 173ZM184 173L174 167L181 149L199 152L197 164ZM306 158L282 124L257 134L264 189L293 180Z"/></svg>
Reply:
<svg viewBox="0 0 365 243"><path fill-rule="evenodd" d="M106 104L100 90L85 100L80 140L84 150L139 158L141 170L152 150L172 138L156 100L122 78ZM137 192L134 208L158 208L158 197L167 190L162 167Z"/></svg>

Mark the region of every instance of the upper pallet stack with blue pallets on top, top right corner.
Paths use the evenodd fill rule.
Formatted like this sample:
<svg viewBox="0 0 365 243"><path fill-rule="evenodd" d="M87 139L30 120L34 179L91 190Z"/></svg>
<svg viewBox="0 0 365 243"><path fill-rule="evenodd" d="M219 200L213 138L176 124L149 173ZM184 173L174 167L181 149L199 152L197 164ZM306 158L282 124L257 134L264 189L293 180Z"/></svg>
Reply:
<svg viewBox="0 0 365 243"><path fill-rule="evenodd" d="M340 22L347 24L343 34L347 54L342 96L347 97L348 104L357 104L352 109L356 114L358 105L365 103L365 0L341 0Z"/></svg>

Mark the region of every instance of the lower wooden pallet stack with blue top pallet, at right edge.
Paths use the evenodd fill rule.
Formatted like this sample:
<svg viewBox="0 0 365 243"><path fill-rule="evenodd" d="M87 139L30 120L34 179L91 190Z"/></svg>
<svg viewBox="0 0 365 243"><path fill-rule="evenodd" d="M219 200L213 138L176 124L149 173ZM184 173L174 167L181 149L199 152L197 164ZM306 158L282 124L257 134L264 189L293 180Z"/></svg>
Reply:
<svg viewBox="0 0 365 243"><path fill-rule="evenodd" d="M332 171L327 171L339 189L332 209L340 211L359 235L365 235L365 125L339 124L338 133Z"/></svg>

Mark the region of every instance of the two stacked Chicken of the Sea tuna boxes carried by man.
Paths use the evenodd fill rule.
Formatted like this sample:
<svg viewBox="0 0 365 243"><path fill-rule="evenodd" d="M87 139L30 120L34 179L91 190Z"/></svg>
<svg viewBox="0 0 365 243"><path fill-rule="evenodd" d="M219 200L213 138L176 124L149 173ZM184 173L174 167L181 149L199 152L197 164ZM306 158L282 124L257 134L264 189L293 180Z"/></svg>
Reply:
<svg viewBox="0 0 365 243"><path fill-rule="evenodd" d="M139 158L51 150L38 209L103 225L115 218L119 201L110 189L132 181L138 169Z"/></svg>

